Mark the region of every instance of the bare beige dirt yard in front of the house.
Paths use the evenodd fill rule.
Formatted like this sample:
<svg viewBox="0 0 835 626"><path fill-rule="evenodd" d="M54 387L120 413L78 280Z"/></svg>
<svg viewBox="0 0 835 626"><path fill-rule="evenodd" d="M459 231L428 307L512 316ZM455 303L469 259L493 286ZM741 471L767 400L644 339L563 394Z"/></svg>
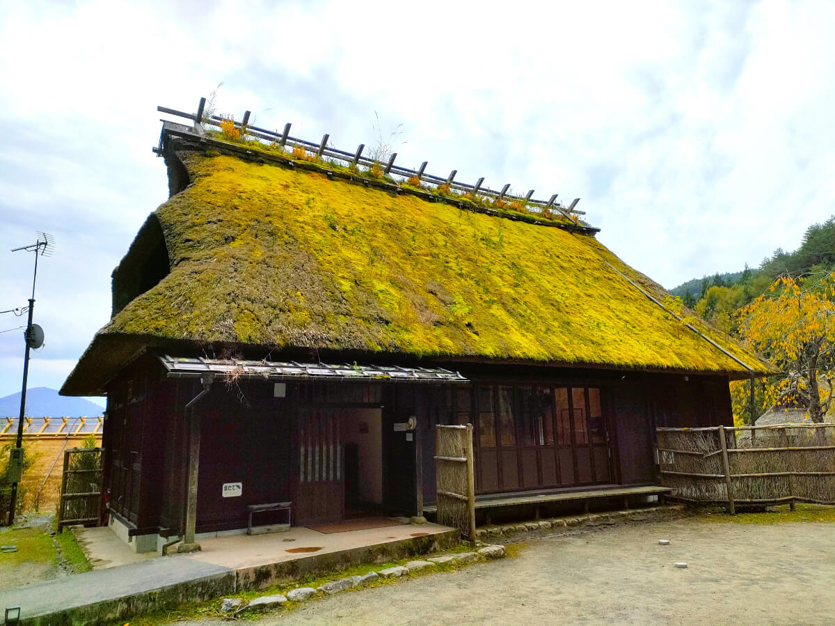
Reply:
<svg viewBox="0 0 835 626"><path fill-rule="evenodd" d="M516 557L338 593L256 623L823 624L835 616L832 523L686 518L519 545Z"/></svg>

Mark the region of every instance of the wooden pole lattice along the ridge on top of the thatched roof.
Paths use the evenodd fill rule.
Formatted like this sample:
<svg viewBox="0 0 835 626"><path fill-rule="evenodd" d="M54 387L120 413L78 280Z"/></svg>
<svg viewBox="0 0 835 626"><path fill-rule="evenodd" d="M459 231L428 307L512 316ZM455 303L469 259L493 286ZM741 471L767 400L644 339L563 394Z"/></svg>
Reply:
<svg viewBox="0 0 835 626"><path fill-rule="evenodd" d="M194 123L195 130L201 130L203 125L211 125L217 128L220 128L221 124L231 125L231 127L237 130L240 135L240 139L243 140L244 138L248 138L251 140L258 140L262 143L266 142L267 145L278 147L285 151L288 155L292 153L293 147L298 146L303 150L311 152L312 155L315 155L316 159L327 157L342 161L348 166L362 165L368 169L377 166L381 168L383 175L400 176L403 181L417 179L417 183L419 185L429 185L436 188L444 186L448 190L456 190L473 197L482 196L484 198L491 199L494 202L519 202L525 207L526 211L533 212L534 214L539 213L540 215L547 215L549 211L556 211L569 221L574 222L574 224L581 226L584 229L593 230L595 232L599 230L579 219L579 216L585 215L584 211L578 211L576 209L579 198L574 198L569 206L564 206L561 202L557 201L558 194L552 195L547 201L538 200L533 197L533 189L528 191L528 193L524 196L516 196L509 193L510 183L505 184L500 191L496 191L483 186L484 177L479 178L473 185L456 181L455 176L458 174L458 170L452 170L446 177L434 176L433 174L428 174L426 172L428 161L423 161L417 170L395 165L394 161L397 159L397 152L392 152L388 160L385 163L381 163L362 155L366 147L365 144L360 144L357 147L357 150L353 152L339 150L332 145L328 145L328 140L330 140L330 135L328 134L323 135L321 141L319 142L303 140L299 137L290 135L291 124L289 122L284 126L284 130L282 132L267 130L258 126L249 125L251 116L250 111L245 111L243 119L240 122L229 120L220 115L205 115L205 103L206 99L200 98L200 104L198 105L196 113L186 113L185 111L170 109L164 106L158 106L157 110L160 113L175 115L176 117L190 120ZM160 145L158 148L154 148L154 152L160 155L162 153L162 146Z"/></svg>

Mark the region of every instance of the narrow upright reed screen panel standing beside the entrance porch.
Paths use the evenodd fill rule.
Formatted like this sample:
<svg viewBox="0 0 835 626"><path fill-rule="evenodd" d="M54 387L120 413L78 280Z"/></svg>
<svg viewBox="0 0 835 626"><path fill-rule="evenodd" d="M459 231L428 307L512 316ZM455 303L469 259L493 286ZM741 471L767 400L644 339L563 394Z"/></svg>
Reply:
<svg viewBox="0 0 835 626"><path fill-rule="evenodd" d="M475 541L473 425L436 426L435 481L438 523L458 528Z"/></svg>

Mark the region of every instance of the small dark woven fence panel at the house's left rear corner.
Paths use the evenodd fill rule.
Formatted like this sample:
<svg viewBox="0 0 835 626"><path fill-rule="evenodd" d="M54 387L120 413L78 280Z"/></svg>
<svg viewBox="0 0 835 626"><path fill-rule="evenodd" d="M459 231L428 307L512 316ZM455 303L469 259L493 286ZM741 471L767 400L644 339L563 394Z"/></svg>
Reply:
<svg viewBox="0 0 835 626"><path fill-rule="evenodd" d="M99 523L102 507L102 448L71 448L63 453L58 532L65 526Z"/></svg>

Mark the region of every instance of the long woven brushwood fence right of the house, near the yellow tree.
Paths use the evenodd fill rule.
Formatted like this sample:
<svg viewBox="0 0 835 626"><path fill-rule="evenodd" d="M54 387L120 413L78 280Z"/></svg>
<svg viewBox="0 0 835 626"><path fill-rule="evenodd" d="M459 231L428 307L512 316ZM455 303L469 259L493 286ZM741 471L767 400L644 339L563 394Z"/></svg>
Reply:
<svg viewBox="0 0 835 626"><path fill-rule="evenodd" d="M835 425L656 429L669 497L736 506L835 504Z"/></svg>

